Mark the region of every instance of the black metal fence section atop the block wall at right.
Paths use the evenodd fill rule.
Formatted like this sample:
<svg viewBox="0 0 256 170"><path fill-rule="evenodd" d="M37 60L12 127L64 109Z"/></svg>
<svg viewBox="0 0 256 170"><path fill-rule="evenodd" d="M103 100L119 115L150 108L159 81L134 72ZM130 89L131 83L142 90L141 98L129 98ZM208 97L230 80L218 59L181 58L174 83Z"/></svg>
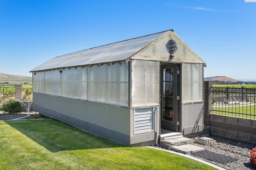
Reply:
<svg viewBox="0 0 256 170"><path fill-rule="evenodd" d="M213 95L212 113L256 119L255 88L211 88Z"/></svg>

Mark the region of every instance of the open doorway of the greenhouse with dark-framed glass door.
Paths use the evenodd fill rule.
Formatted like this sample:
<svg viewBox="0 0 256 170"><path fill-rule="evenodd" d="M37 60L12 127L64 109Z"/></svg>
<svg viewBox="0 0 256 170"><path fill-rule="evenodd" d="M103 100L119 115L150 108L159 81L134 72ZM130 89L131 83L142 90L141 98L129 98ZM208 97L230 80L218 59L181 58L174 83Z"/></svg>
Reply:
<svg viewBox="0 0 256 170"><path fill-rule="evenodd" d="M180 64L161 63L161 131L179 131Z"/></svg>

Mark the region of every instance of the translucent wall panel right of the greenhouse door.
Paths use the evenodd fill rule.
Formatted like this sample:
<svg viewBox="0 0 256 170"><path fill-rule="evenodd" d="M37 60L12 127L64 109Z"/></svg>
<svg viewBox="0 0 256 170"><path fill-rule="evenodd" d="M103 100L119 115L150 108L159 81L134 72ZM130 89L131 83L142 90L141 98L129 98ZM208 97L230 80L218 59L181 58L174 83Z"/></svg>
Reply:
<svg viewBox="0 0 256 170"><path fill-rule="evenodd" d="M182 63L182 102L203 101L203 64Z"/></svg>

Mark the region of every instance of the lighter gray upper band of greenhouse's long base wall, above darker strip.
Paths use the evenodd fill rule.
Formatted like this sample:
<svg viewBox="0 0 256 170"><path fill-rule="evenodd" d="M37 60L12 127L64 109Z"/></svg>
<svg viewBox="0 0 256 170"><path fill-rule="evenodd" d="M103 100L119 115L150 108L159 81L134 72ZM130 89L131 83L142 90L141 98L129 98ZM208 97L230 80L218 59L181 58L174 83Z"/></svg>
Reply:
<svg viewBox="0 0 256 170"><path fill-rule="evenodd" d="M33 93L33 106L61 113L61 116L89 122L112 131L130 135L130 108L90 102L87 100ZM34 109L38 109L35 108ZM46 111L44 111L46 112Z"/></svg>

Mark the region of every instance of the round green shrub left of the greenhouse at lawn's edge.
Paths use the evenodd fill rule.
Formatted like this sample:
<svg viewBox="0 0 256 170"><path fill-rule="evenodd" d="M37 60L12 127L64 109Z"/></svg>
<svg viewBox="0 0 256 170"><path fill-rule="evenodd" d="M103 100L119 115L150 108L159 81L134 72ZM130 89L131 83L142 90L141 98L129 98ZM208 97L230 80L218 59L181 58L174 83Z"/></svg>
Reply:
<svg viewBox="0 0 256 170"><path fill-rule="evenodd" d="M22 109L26 108L26 104L21 102L20 100L15 100L14 98L6 99L0 105L0 111L4 111L4 113L14 114L21 113Z"/></svg>

